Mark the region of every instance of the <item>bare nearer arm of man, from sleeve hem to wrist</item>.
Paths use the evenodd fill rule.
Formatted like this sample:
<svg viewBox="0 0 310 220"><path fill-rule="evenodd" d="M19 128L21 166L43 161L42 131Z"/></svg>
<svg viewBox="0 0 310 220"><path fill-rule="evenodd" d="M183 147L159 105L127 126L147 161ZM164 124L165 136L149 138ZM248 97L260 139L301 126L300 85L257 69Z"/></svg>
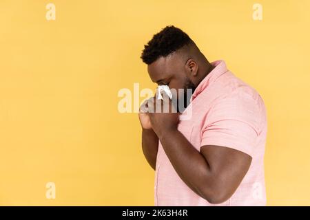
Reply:
<svg viewBox="0 0 310 220"><path fill-rule="evenodd" d="M199 152L177 129L158 137L176 173L210 203L229 199L251 164L249 155L225 146L202 146Z"/></svg>

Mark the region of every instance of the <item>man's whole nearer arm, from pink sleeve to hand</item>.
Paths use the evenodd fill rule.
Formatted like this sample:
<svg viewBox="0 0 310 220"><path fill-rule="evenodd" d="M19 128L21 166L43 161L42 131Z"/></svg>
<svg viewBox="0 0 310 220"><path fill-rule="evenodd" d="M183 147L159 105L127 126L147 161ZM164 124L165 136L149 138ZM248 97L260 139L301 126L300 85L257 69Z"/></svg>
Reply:
<svg viewBox="0 0 310 220"><path fill-rule="evenodd" d="M148 111L147 114L169 161L185 184L200 197L209 203L223 203L234 194L251 164L258 135L258 120L254 117L259 115L256 100L244 96L240 90L214 106L214 112L208 116L209 126L203 128L199 151L178 131L179 118L172 100L149 103L152 109L166 105L167 113Z"/></svg>

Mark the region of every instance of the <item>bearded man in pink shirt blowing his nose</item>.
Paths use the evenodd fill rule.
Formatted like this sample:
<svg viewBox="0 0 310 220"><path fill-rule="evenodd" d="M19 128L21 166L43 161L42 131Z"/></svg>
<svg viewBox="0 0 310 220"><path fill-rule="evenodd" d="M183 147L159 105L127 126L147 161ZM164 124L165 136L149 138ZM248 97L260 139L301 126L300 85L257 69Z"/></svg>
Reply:
<svg viewBox="0 0 310 220"><path fill-rule="evenodd" d="M170 89L192 89L185 111L151 98L141 111L143 153L155 172L156 206L265 206L265 105L227 69L209 63L182 30L167 26L145 45L149 77ZM178 97L180 99L180 97ZM188 120L180 115L191 111Z"/></svg>

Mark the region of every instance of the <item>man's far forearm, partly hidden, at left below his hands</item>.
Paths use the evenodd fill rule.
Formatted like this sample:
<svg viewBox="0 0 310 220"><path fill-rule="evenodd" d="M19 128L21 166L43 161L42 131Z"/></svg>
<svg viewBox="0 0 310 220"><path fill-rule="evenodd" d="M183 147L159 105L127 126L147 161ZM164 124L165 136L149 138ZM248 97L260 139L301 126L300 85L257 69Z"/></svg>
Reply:
<svg viewBox="0 0 310 220"><path fill-rule="evenodd" d="M142 150L147 162L155 170L158 151L158 137L152 129L142 129Z"/></svg>

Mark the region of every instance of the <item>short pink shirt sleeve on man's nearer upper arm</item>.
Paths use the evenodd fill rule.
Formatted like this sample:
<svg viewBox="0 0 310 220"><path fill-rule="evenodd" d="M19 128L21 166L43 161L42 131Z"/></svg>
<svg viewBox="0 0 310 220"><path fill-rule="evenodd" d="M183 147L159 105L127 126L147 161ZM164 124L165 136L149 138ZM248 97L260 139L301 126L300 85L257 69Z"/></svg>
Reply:
<svg viewBox="0 0 310 220"><path fill-rule="evenodd" d="M260 110L257 100L241 89L218 100L202 129L201 146L234 148L253 157L258 141Z"/></svg>

